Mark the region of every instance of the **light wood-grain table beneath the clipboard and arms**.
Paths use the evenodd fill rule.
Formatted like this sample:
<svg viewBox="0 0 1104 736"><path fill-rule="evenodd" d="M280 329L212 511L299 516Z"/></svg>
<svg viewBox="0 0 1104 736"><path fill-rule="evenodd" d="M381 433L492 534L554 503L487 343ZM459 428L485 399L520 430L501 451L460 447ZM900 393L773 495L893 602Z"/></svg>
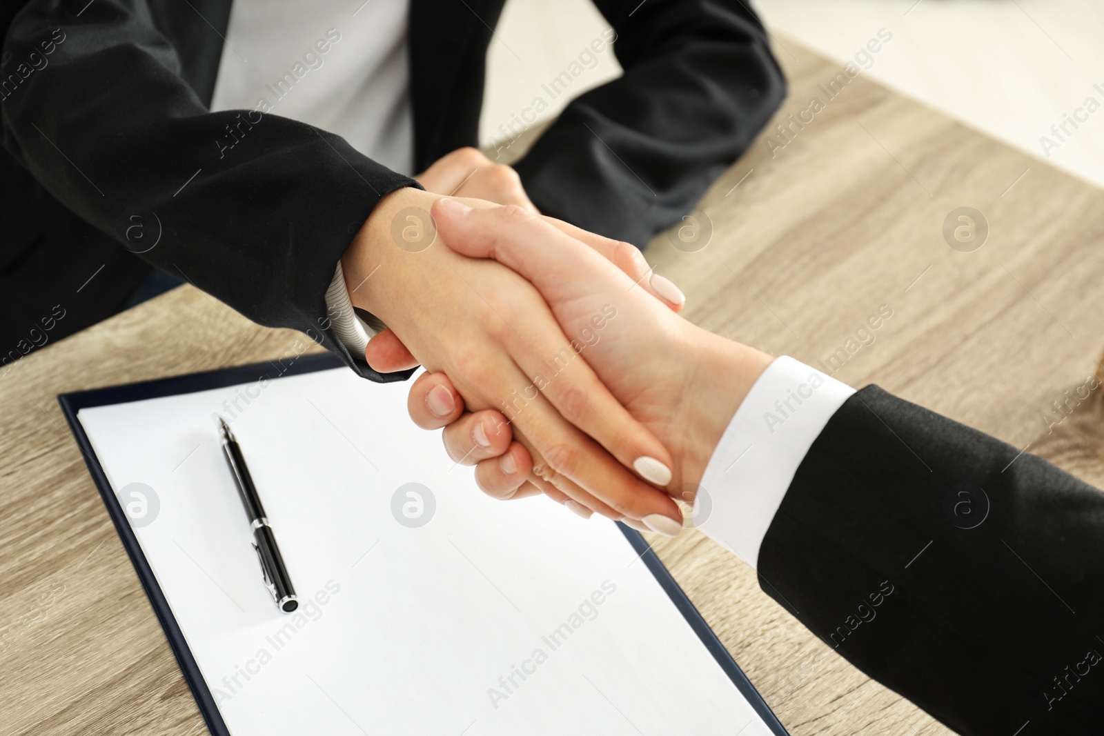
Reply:
<svg viewBox="0 0 1104 736"><path fill-rule="evenodd" d="M1032 442L1098 482L1100 402L1051 435L1040 413L1104 344L1104 193L862 75L829 100L818 85L842 66L782 43L778 121L813 95L824 109L785 139L772 125L712 188L700 205L711 236L651 244L649 260L690 296L687 317L813 365L842 348L842 381ZM943 237L959 206L988 221L980 249ZM848 352L881 305L892 317ZM0 733L205 733L55 395L265 360L295 340L182 287L0 375ZM831 653L711 541L655 542L795 736L948 733Z"/></svg>

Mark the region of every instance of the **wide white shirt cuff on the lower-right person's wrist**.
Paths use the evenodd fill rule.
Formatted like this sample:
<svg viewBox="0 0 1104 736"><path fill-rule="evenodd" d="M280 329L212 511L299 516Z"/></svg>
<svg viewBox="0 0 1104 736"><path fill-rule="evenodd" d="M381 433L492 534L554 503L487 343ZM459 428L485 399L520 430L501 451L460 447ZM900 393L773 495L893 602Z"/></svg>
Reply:
<svg viewBox="0 0 1104 736"><path fill-rule="evenodd" d="M696 525L758 566L763 537L814 440L854 388L783 355L747 393L702 474Z"/></svg>

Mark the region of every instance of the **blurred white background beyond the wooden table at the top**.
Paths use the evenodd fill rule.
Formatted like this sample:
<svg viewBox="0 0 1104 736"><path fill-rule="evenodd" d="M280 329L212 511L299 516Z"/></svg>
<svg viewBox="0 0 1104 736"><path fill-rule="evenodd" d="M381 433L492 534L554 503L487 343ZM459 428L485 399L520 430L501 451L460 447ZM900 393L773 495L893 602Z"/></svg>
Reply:
<svg viewBox="0 0 1104 736"><path fill-rule="evenodd" d="M795 39L842 63L881 29L893 33L867 72L893 89L1040 160L1104 186L1104 3L1100 0L757 0L775 54ZM542 97L542 85L569 68L607 28L590 0L509 0L491 43L480 143ZM779 43L781 42L781 43ZM596 54L571 95L616 76L609 53ZM1094 85L1100 85L1095 88ZM1092 97L1084 122L1064 141L1051 132ZM1040 138L1059 142L1047 158Z"/></svg>

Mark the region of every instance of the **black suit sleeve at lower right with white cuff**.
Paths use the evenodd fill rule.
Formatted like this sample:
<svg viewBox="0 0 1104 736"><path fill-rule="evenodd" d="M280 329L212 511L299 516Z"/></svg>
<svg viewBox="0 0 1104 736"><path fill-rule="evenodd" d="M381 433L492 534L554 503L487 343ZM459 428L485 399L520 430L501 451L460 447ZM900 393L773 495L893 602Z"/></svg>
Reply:
<svg viewBox="0 0 1104 736"><path fill-rule="evenodd" d="M1038 457L868 386L809 449L758 570L960 734L1104 733L1104 493Z"/></svg>

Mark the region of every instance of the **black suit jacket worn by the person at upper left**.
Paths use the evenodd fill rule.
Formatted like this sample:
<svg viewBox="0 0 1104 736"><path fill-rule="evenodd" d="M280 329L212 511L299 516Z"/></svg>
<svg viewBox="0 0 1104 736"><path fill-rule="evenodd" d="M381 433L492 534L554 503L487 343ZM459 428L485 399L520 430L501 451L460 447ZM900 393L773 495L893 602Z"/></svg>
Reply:
<svg viewBox="0 0 1104 736"><path fill-rule="evenodd" d="M744 0L595 1L625 75L569 106L517 169L544 212L643 245L749 146L784 83ZM418 170L477 143L501 7L411 1ZM229 0L3 3L0 361L109 316L157 266L367 377L408 375L350 355L323 295L376 202L415 182L323 130L210 113L229 17ZM227 126L241 142L223 150Z"/></svg>

